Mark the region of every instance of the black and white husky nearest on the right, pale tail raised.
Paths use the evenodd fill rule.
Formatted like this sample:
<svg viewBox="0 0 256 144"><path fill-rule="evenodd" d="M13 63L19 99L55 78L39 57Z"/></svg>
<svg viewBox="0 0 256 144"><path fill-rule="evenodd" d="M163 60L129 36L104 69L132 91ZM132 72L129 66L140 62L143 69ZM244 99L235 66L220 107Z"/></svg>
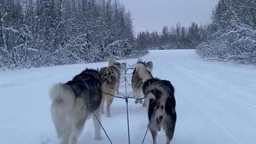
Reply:
<svg viewBox="0 0 256 144"><path fill-rule="evenodd" d="M154 78L145 63L138 62L136 69L142 78L142 91L147 98L150 98L148 118L149 121L151 119L149 130L153 137L153 144L156 144L157 131L161 131L161 127L163 127L166 134L166 144L169 144L173 138L177 119L174 87L170 81Z"/></svg>

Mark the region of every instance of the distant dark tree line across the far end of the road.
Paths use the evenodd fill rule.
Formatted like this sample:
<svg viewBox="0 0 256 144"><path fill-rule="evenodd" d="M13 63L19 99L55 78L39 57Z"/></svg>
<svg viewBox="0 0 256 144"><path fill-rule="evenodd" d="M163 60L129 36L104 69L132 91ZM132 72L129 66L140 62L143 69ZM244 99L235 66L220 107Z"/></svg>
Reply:
<svg viewBox="0 0 256 144"><path fill-rule="evenodd" d="M191 26L164 26L161 32L141 31L137 35L138 49L195 49L205 39L205 27L195 22Z"/></svg>

